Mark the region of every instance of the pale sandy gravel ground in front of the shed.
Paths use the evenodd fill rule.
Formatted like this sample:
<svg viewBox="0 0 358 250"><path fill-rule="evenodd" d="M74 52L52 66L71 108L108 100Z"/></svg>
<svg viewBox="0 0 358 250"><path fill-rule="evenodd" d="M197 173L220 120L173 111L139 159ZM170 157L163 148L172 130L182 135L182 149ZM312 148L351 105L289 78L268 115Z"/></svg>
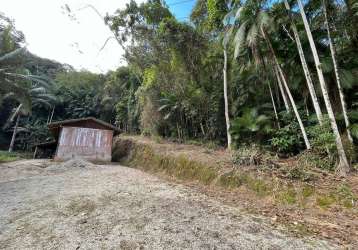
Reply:
<svg viewBox="0 0 358 250"><path fill-rule="evenodd" d="M119 165L0 165L1 249L336 249Z"/></svg>

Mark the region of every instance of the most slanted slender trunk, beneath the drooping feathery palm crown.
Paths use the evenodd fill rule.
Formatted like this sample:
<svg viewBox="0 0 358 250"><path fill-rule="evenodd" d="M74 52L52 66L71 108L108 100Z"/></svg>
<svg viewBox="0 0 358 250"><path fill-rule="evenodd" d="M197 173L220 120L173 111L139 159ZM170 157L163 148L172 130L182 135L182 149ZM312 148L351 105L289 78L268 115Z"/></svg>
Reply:
<svg viewBox="0 0 358 250"><path fill-rule="evenodd" d="M283 86L287 92L287 95L288 95L288 98L290 99L290 102L291 102L291 105L292 105L292 108L293 108L293 112L295 113L295 116L296 116L296 119L298 121L298 124L300 126L300 129L301 129L301 133L302 133L302 136L303 136L303 140L305 141L305 145L306 145L306 148L307 149L310 149L311 148L311 145L310 145L310 142L308 141L308 137L307 137L307 133L306 133L306 129L305 127L303 126L303 122L302 122L302 119L301 119L301 116L300 114L298 113L298 110L297 110L297 107L296 107L296 103L295 103L295 100L293 99L292 97L292 94L291 94L291 91L288 87L288 84L287 84L287 81L286 81L286 77L285 75L283 74L283 71L281 69L281 66L280 64L278 63L278 60L277 60L277 57L276 57L276 53L272 47L272 44L270 42L270 40L268 39L267 35L266 35L266 32L264 31L263 27L261 27L261 33L264 37L264 39L266 40L267 42L267 45L270 49L270 52L272 54L272 57L274 59L274 63L276 65L276 68L281 76L281 79L282 79L282 82L283 82Z"/></svg>

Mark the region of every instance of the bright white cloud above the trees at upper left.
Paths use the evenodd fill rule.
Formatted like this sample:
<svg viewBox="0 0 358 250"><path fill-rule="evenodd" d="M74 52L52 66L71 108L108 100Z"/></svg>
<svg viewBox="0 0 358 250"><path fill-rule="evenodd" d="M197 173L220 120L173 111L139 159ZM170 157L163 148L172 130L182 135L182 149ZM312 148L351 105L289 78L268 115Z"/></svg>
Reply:
<svg viewBox="0 0 358 250"><path fill-rule="evenodd" d="M76 11L78 21L71 20L61 8L72 11L91 4L104 16L123 8L129 0L0 0L1 11L15 20L25 34L28 49L41 57L68 63L76 69L106 72L123 64L123 50L110 40L112 36L103 20L90 8Z"/></svg>

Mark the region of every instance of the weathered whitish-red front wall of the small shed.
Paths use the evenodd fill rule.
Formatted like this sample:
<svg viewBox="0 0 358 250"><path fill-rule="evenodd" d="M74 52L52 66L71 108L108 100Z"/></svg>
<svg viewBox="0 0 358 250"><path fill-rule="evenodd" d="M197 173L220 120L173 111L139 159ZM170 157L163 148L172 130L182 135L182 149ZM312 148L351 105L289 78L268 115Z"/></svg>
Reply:
<svg viewBox="0 0 358 250"><path fill-rule="evenodd" d="M55 160L81 157L91 161L111 161L112 130L63 127Z"/></svg>

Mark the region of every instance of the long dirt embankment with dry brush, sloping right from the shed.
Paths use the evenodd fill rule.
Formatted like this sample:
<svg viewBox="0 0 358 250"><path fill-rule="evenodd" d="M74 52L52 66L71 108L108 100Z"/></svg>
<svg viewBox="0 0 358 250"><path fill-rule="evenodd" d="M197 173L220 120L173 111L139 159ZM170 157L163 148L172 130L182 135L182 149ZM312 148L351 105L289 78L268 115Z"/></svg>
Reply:
<svg viewBox="0 0 358 250"><path fill-rule="evenodd" d="M277 159L270 166L234 165L223 149L139 136L118 137L113 156L225 204L269 217L294 234L358 248L357 174L339 179L315 169L306 173L297 169L295 159ZM314 178L305 178L308 174Z"/></svg>

